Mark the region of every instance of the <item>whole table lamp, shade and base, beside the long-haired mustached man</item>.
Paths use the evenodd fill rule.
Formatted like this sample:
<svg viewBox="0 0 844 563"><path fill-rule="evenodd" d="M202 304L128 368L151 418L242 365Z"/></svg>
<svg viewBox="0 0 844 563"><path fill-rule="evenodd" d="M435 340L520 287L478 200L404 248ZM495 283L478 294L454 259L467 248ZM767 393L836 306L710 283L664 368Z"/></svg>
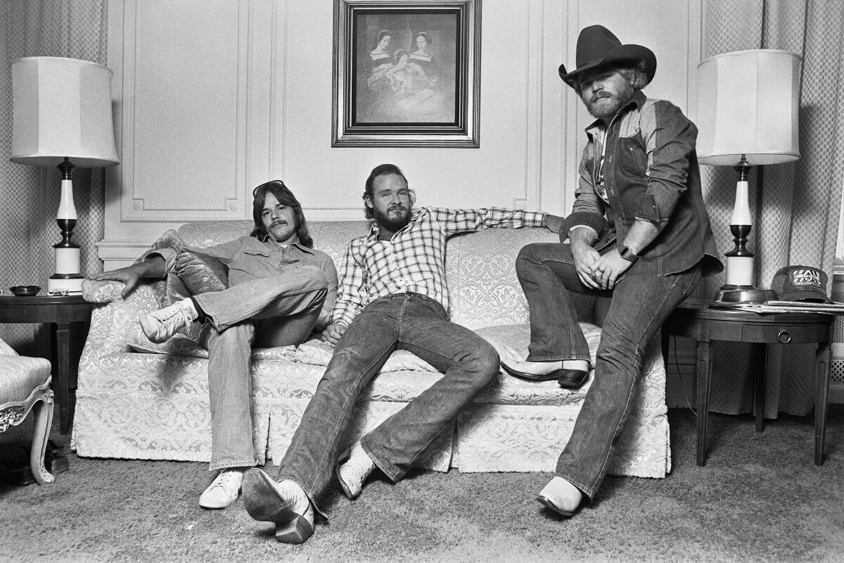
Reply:
<svg viewBox="0 0 844 563"><path fill-rule="evenodd" d="M56 273L48 292L81 293L79 246L73 227L72 172L76 166L119 164L111 120L111 70L64 57L24 57L12 62L12 162L57 166L62 192L56 221L62 241L55 248Z"/></svg>

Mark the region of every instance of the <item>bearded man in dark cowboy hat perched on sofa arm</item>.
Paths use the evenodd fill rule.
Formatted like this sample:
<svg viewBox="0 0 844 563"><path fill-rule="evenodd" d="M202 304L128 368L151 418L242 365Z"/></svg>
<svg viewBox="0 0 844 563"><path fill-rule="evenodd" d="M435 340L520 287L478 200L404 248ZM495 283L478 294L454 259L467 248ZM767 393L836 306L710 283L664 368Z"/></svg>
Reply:
<svg viewBox="0 0 844 563"><path fill-rule="evenodd" d="M667 100L641 89L657 69L647 47L622 45L592 25L577 39L576 68L560 78L596 117L560 242L522 248L517 273L531 314L526 361L512 375L580 387L589 349L571 293L610 298L595 375L556 476L538 501L571 517L606 474L630 413L647 342L702 276L722 264L701 196L697 128Z"/></svg>

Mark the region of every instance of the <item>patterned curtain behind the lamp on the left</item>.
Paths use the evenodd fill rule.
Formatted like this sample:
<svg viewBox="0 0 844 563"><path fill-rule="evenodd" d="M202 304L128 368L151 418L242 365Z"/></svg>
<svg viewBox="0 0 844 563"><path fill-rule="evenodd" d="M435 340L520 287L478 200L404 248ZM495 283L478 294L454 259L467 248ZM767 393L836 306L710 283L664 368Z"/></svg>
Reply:
<svg viewBox="0 0 844 563"><path fill-rule="evenodd" d="M12 150L12 68L18 57L72 57L106 64L106 0L0 1L0 288L40 285L54 272L52 245L62 240L56 225L61 173L9 162ZM102 169L73 171L78 221L73 241L82 246L83 274L102 269L94 243L104 236ZM35 353L35 328L0 325L0 337L15 349Z"/></svg>

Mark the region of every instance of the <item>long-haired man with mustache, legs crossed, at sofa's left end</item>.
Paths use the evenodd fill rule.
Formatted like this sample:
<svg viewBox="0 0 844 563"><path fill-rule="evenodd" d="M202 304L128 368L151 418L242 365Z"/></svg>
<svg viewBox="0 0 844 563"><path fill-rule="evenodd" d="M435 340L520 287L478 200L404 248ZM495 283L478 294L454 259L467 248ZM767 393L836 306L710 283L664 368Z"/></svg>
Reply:
<svg viewBox="0 0 844 563"><path fill-rule="evenodd" d="M305 342L328 324L337 296L331 257L314 248L305 214L284 182L268 181L252 192L252 234L219 246L154 248L138 263L90 279L116 279L126 297L139 279L162 279L184 251L214 257L228 268L230 287L193 295L140 317L156 343L203 323L199 340L208 349L211 401L211 465L214 480L199 497L203 508L237 500L243 474L256 463L252 447L252 344Z"/></svg>

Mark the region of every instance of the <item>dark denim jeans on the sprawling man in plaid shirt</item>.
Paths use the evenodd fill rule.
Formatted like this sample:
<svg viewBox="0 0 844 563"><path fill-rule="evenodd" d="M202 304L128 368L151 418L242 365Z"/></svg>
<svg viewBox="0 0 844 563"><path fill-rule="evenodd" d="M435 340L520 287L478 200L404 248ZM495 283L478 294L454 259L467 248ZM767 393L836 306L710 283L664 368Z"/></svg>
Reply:
<svg viewBox="0 0 844 563"><path fill-rule="evenodd" d="M449 322L436 300L407 293L372 301L337 344L281 461L279 480L293 479L312 502L325 490L354 404L396 349L413 352L444 376L361 440L367 455L393 481L402 479L499 369L492 345Z"/></svg>

